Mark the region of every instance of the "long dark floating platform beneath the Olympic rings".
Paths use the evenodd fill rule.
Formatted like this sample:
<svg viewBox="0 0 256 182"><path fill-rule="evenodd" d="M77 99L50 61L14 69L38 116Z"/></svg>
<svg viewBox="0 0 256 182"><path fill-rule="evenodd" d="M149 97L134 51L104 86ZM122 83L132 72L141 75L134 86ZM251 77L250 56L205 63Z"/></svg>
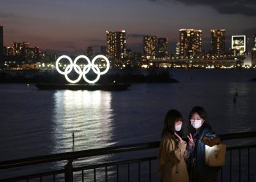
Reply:
<svg viewBox="0 0 256 182"><path fill-rule="evenodd" d="M131 84L35 84L39 90L127 90Z"/></svg>

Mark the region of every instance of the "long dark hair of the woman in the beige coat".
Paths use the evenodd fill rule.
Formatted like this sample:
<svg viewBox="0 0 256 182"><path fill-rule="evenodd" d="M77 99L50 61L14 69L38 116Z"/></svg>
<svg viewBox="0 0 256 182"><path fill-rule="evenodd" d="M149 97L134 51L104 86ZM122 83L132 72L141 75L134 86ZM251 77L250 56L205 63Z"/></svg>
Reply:
<svg viewBox="0 0 256 182"><path fill-rule="evenodd" d="M167 114L165 115L165 123L164 128L162 130L161 138L169 133L174 135L174 132L176 132L174 125L177 121L183 122L183 118L180 112L175 109L168 111ZM181 131L176 133L181 136Z"/></svg>

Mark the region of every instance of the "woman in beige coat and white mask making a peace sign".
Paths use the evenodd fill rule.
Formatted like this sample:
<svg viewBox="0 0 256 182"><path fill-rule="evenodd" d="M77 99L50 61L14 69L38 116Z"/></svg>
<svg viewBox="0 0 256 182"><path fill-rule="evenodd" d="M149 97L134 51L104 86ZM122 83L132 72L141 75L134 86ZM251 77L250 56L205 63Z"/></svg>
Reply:
<svg viewBox="0 0 256 182"><path fill-rule="evenodd" d="M158 156L159 177L163 182L189 181L184 161L187 143L180 137L182 123L183 119L178 111L167 112Z"/></svg>

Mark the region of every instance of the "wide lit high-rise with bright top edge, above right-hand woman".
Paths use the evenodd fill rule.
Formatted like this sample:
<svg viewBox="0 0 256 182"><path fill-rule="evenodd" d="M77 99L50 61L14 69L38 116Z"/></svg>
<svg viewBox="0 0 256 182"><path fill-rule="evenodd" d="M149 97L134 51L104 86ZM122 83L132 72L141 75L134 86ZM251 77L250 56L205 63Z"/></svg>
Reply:
<svg viewBox="0 0 256 182"><path fill-rule="evenodd" d="M180 58L194 58L202 53L202 31L194 29L179 30Z"/></svg>

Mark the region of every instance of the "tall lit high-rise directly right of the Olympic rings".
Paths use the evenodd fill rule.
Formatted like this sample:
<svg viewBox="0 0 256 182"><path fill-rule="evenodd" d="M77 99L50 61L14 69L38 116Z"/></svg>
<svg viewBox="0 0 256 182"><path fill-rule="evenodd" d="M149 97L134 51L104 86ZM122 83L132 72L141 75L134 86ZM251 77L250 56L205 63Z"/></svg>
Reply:
<svg viewBox="0 0 256 182"><path fill-rule="evenodd" d="M107 31L107 56L115 68L122 66L122 61L126 57L126 35L125 31Z"/></svg>

